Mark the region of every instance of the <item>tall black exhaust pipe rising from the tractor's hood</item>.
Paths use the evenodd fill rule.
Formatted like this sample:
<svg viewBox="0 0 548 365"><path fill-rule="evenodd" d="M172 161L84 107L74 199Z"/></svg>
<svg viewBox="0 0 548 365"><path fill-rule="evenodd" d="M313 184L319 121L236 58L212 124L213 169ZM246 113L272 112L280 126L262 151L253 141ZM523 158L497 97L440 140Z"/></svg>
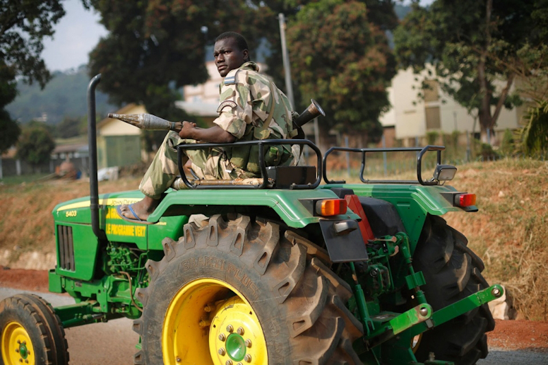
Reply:
<svg viewBox="0 0 548 365"><path fill-rule="evenodd" d="M99 240L107 235L99 227L99 182L97 181L97 128L95 126L95 88L101 81L101 74L95 75L88 85L88 145L90 154L90 215L91 228Z"/></svg>

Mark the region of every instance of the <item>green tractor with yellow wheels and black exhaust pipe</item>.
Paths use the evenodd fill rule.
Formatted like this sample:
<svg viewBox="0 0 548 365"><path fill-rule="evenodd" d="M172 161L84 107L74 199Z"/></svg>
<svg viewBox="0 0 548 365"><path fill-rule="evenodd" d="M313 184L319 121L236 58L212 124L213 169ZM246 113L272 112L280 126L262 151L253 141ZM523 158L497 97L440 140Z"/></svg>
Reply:
<svg viewBox="0 0 548 365"><path fill-rule="evenodd" d="M95 87L88 87L91 177L97 176ZM316 166L266 168L269 144L308 145ZM475 195L444 185L443 147L349 149L323 159L309 140L260 140L262 178L188 179L148 225L116 205L139 191L97 194L53 210L57 265L49 290L75 304L16 295L0 303L1 363L67 364L64 329L133 319L134 364L475 364L494 328L484 264L441 218L474 212ZM200 147L212 147L201 144ZM179 156L190 147L179 146ZM362 155L361 184L329 179L334 151ZM364 177L369 153L416 152L416 181ZM433 177L423 180L428 152ZM180 165L180 164L179 164ZM321 181L325 184L321 184Z"/></svg>

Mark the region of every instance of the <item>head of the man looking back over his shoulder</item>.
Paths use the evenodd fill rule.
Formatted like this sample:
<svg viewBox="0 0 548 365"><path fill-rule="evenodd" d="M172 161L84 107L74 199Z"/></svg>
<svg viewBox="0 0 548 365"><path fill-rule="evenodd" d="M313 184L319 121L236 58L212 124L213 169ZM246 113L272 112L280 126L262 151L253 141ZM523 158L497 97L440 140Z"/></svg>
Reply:
<svg viewBox="0 0 548 365"><path fill-rule="evenodd" d="M222 77L251 60L247 41L240 34L234 32L225 32L216 38L213 57L217 71Z"/></svg>

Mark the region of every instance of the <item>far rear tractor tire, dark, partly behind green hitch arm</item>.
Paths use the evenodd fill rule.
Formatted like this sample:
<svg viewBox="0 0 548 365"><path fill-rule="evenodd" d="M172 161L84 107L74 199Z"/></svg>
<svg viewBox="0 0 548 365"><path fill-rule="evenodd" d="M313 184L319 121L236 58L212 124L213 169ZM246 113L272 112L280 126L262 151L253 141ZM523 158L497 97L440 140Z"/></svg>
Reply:
<svg viewBox="0 0 548 365"><path fill-rule="evenodd" d="M422 288L434 311L488 287L482 276L482 260L466 244L466 237L449 227L443 218L427 216L413 255L413 266L425 276ZM494 328L493 316L484 304L423 333L416 347L416 358L423 362L429 353L434 353L436 360L475 364L486 357L486 332Z"/></svg>

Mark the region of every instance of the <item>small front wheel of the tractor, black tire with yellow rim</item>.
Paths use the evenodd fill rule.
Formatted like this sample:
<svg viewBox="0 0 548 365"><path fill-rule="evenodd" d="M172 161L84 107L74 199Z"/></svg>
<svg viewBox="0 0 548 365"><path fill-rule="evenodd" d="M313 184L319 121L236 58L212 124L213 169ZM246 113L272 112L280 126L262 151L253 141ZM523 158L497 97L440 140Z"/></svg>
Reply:
<svg viewBox="0 0 548 365"><path fill-rule="evenodd" d="M1 365L66 365L68 344L47 301L18 294L0 302Z"/></svg>

